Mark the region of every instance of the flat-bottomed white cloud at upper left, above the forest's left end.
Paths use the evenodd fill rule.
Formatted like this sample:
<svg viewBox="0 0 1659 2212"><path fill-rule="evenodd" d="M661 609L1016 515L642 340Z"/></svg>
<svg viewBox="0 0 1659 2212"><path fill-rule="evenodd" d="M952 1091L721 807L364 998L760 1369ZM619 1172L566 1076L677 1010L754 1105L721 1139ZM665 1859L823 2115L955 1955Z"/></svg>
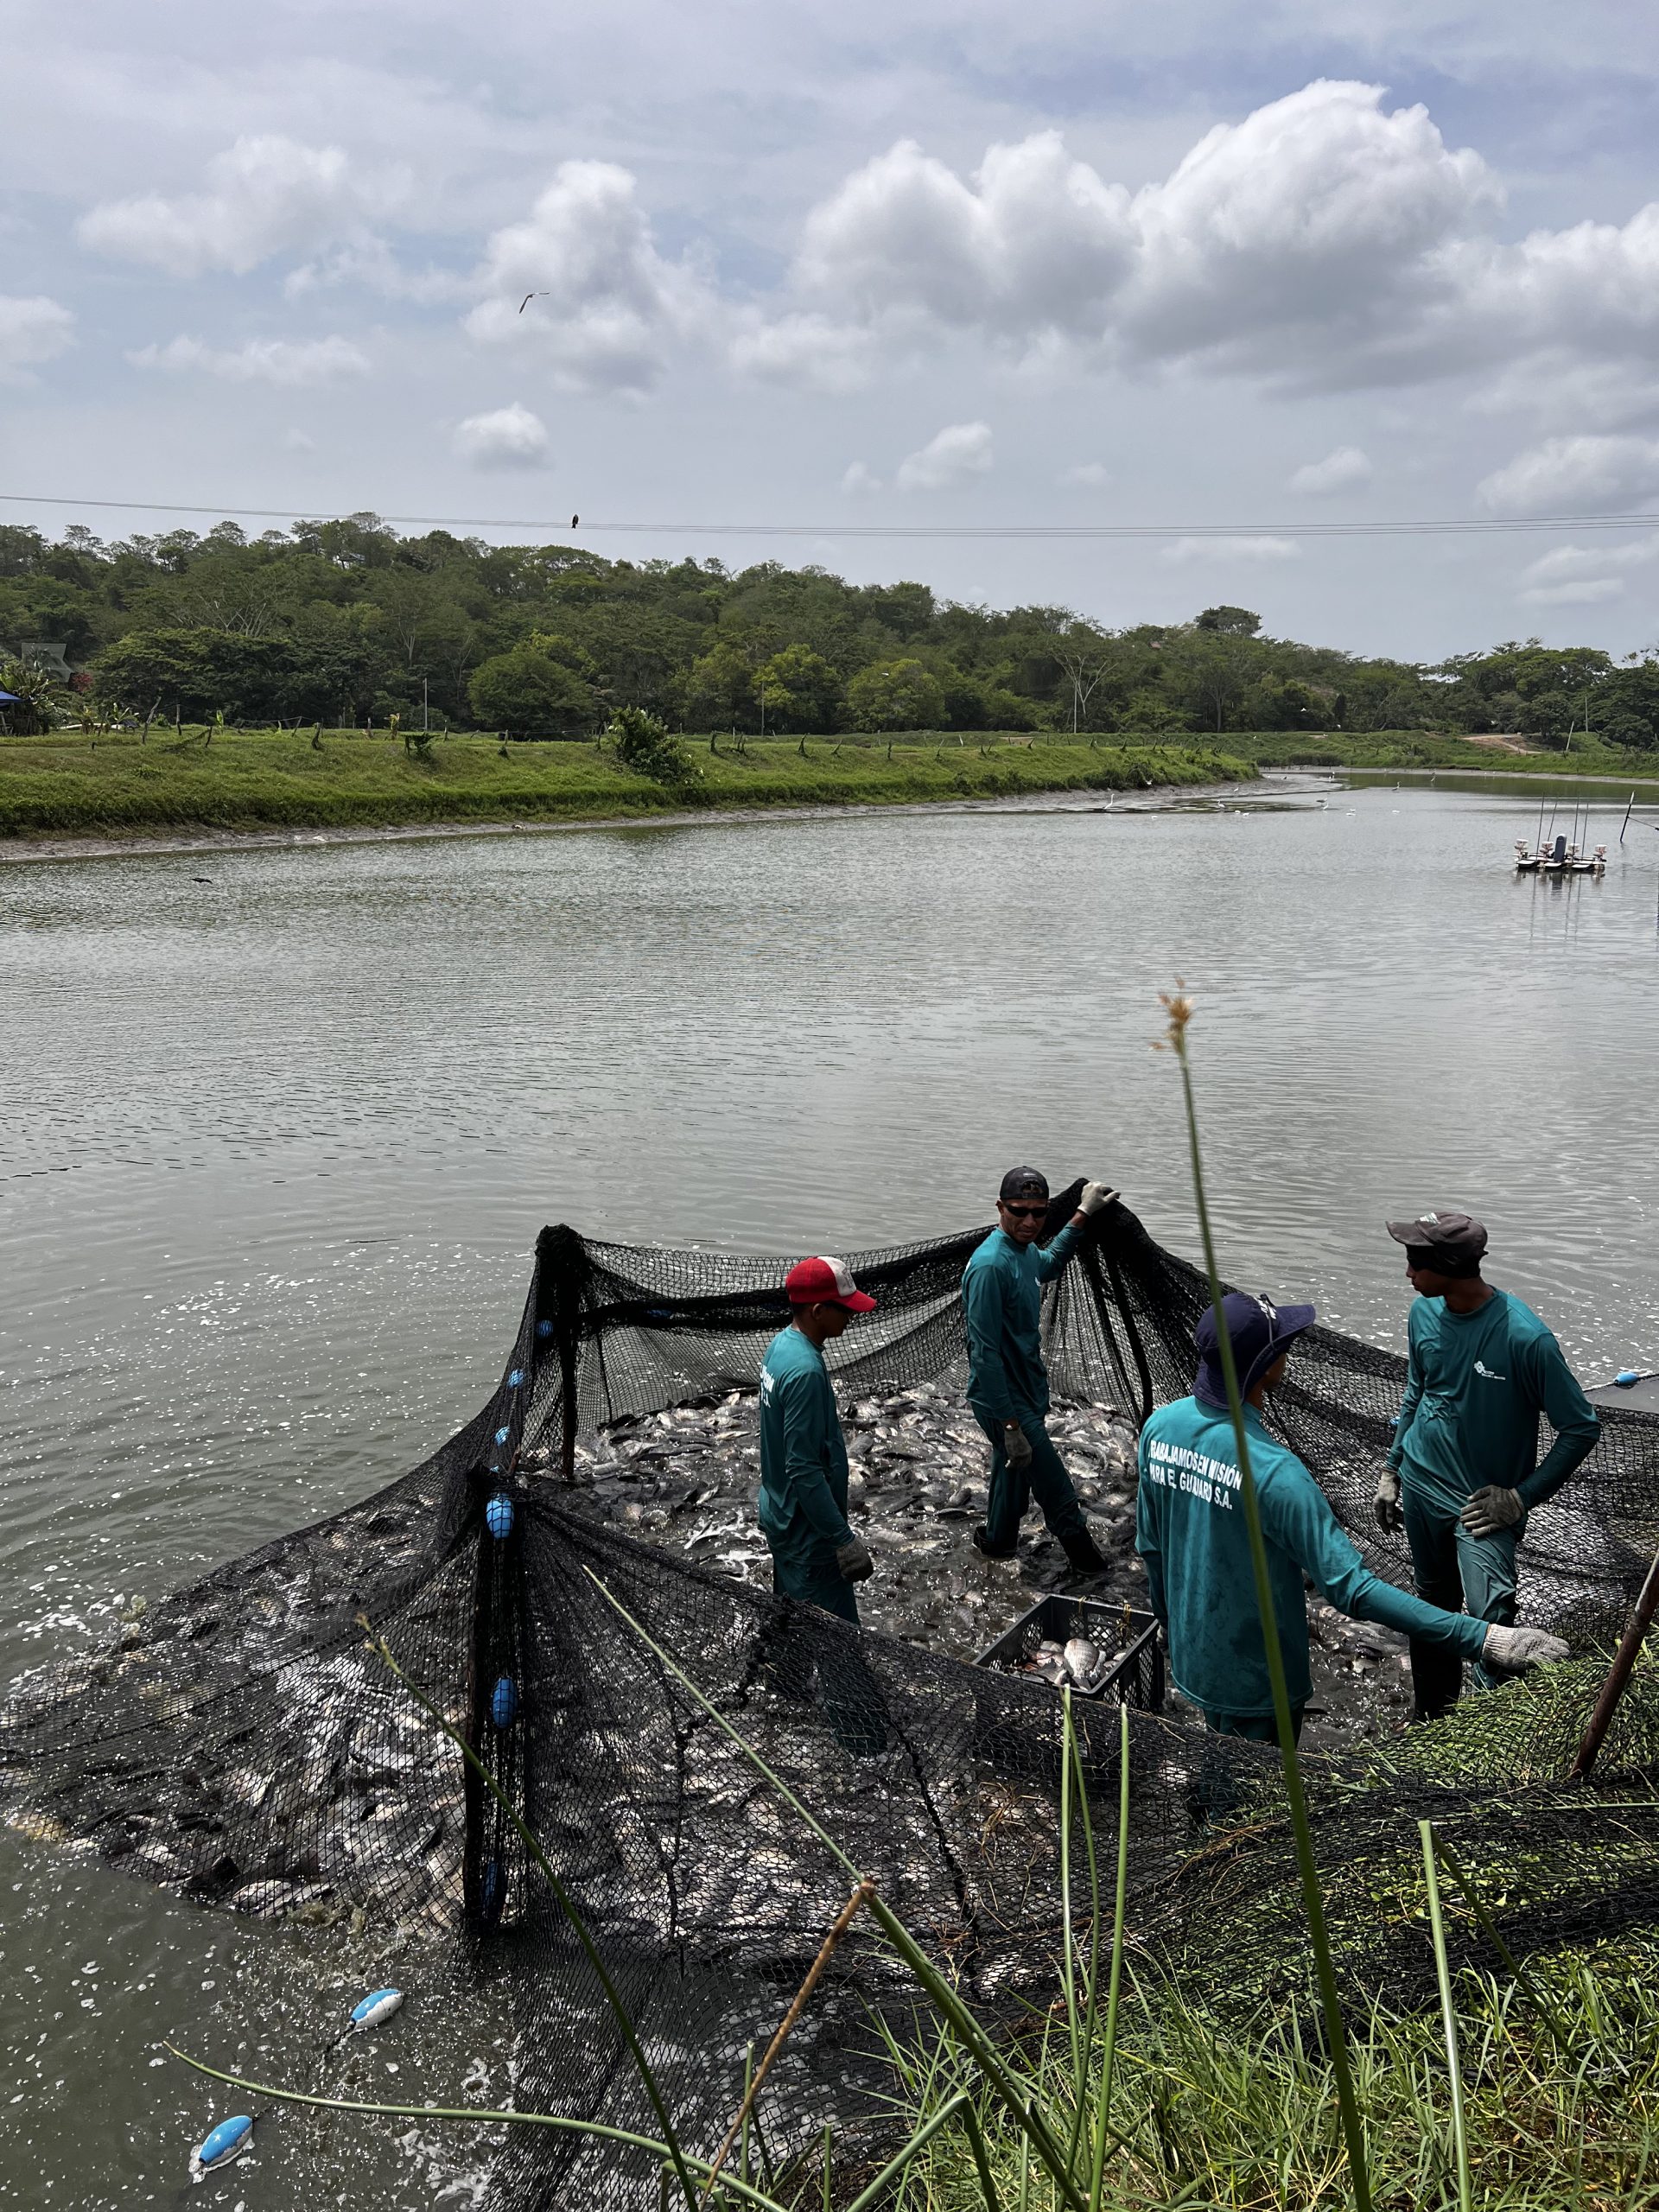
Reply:
<svg viewBox="0 0 1659 2212"><path fill-rule="evenodd" d="M75 234L93 252L139 261L168 276L206 270L246 274L272 254L310 250L361 230L409 188L403 170L365 177L338 146L303 146L281 133L239 137L208 161L206 192L111 199Z"/></svg>

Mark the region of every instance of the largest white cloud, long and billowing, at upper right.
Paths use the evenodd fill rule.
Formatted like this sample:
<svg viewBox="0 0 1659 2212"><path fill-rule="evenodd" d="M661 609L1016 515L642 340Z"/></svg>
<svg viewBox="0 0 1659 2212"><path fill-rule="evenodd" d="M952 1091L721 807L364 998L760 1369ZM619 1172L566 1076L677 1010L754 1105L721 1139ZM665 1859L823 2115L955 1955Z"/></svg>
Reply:
<svg viewBox="0 0 1659 2212"><path fill-rule="evenodd" d="M1475 153L1374 84L1316 82L1221 124L1130 192L1060 133L958 177L911 139L805 223L796 285L914 338L971 330L1296 383L1394 374L1447 292L1438 257L1500 204Z"/></svg>

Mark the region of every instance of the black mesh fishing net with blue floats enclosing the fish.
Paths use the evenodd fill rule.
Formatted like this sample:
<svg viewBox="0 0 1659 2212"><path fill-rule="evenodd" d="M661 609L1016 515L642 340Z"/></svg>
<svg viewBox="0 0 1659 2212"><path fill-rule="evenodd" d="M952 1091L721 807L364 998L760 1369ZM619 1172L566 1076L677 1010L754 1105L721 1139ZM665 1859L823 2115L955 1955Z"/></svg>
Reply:
<svg viewBox="0 0 1659 2212"><path fill-rule="evenodd" d="M852 1261L878 1312L832 1347L845 1389L953 1374L980 1234ZM571 1482L580 1436L752 1389L787 1318L781 1276L779 1261L544 1230L502 1380L431 1460L13 1686L0 1710L11 1825L204 1905L462 1947L511 2008L520 2108L655 2135L619 2002L699 2152L726 2132L745 2062L847 1902L849 1869L987 2020L1018 2031L1053 1995L1060 1955L1055 1692L641 1544ZM1203 1305L1203 1279L1110 1206L1044 1301L1055 1394L1137 1418L1186 1394ZM1274 1400L1394 1579L1405 1557L1369 1509L1400 1387L1396 1356L1312 1329ZM1655 1544L1659 1416L1606 1413L1595 1455L1531 1520L1522 1617L1577 1650L1606 1644ZM1659 1924L1659 1710L1641 1677L1597 1787L1559 1785L1593 1688L1593 1668L1564 1668L1391 1745L1307 1761L1354 1989L1409 2000L1431 1986L1411 1874L1422 1816L1482 1869L1515 1949ZM1130 1668L1117 1694L1155 1703L1155 1670ZM1217 2004L1301 2002L1276 1754L1150 1710L1133 1712L1128 1741L1144 1955L1201 1966ZM1079 1705L1079 1750L1110 1851L1115 1705ZM1493 1964L1475 1922L1453 1929L1453 1947ZM914 2002L856 1920L759 2099L765 2157L801 2154L825 2121L841 2141L887 2126L876 2024L902 2035ZM451 2101L453 2084L427 2088ZM511 2130L495 2194L513 2208L650 2205L657 2170L617 2139Z"/></svg>

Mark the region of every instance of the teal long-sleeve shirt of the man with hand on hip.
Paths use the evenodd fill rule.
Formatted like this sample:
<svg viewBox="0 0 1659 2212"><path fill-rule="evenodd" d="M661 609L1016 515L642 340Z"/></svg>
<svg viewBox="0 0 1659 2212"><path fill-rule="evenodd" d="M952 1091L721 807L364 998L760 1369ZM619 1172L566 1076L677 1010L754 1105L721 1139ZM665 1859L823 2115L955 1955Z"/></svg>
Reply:
<svg viewBox="0 0 1659 2212"><path fill-rule="evenodd" d="M1537 1506L1566 1482L1601 1433L1562 1347L1531 1305L1493 1290L1473 1314L1416 1298L1400 1425L1389 1464L1460 1506L1489 1482ZM1537 1416L1555 1442L1537 1458Z"/></svg>

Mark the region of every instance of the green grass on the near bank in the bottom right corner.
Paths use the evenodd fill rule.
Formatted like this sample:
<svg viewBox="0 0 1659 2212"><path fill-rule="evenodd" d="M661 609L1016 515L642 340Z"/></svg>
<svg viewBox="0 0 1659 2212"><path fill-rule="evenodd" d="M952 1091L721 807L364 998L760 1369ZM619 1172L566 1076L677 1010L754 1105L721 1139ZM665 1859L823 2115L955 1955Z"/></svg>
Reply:
<svg viewBox="0 0 1659 2212"><path fill-rule="evenodd" d="M1652 1955L1537 1969L1566 2031L1557 2039L1509 1982L1458 1978L1458 2046L1473 2201L1480 2212L1650 2212L1659 2205L1659 1995ZM1378 2212L1458 2203L1451 2086L1438 2013L1376 2004L1352 2024L1349 2062L1367 2124ZM1057 2042L1031 2059L1053 2110L1073 2095ZM900 2130L958 2086L945 2053L918 2051ZM1093 2090L1091 2090L1093 2095ZM1006 2212L1053 2212L1020 2130L987 2101L991 2181ZM1190 1993L1141 1973L1115 2055L1110 2126L1128 2148L1106 2161L1102 2212L1340 2212L1349 2201L1332 2073L1312 2037L1281 2022L1214 2020ZM874 2170L874 2168L872 2168ZM836 2174L849 2201L865 2174ZM987 2212L971 2148L942 2130L883 2212Z"/></svg>

